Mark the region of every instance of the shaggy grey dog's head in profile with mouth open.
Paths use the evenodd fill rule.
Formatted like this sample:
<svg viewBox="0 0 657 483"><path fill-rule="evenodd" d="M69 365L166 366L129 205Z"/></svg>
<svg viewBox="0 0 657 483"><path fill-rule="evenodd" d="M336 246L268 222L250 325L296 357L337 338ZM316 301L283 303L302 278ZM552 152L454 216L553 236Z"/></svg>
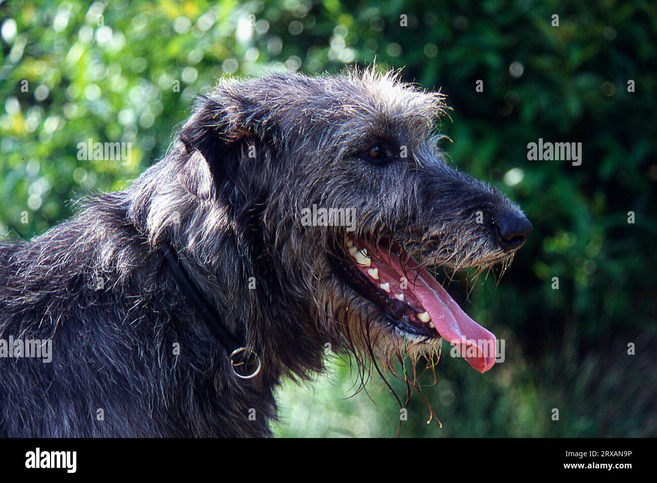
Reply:
<svg viewBox="0 0 657 483"><path fill-rule="evenodd" d="M390 74L221 81L181 131L181 183L221 207L299 337L386 359L436 353L442 337L484 372L495 336L428 267L505 264L532 225L445 160L444 110Z"/></svg>

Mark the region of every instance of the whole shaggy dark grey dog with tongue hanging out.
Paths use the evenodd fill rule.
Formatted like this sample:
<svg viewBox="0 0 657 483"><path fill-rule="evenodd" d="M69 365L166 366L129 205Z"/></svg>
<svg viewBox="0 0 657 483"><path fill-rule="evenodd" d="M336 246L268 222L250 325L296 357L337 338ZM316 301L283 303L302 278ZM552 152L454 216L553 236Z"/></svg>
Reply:
<svg viewBox="0 0 657 483"><path fill-rule="evenodd" d="M268 436L328 347L363 379L441 338L489 369L493 334L426 267L505 264L531 225L445 162L444 109L371 71L221 81L128 189L0 244L0 436Z"/></svg>

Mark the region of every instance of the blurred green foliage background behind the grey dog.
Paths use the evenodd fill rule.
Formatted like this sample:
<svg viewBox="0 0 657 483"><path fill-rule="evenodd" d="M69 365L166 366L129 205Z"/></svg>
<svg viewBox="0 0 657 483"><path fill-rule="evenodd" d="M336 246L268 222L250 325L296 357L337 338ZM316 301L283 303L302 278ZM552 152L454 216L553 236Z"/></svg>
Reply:
<svg viewBox="0 0 657 483"><path fill-rule="evenodd" d="M0 231L27 239L70 216L68 200L124 187L223 75L376 59L442 87L443 148L535 227L464 306L505 338L505 362L480 375L443 357L425 388L443 427L415 397L400 434L655 436L656 26L642 0L0 1ZM133 143L131 162L79 161L89 138ZM581 142L581 166L528 161L539 138ZM330 361L317 384L284 384L277 434L394 434L395 398L374 378L376 404L344 399L349 367Z"/></svg>

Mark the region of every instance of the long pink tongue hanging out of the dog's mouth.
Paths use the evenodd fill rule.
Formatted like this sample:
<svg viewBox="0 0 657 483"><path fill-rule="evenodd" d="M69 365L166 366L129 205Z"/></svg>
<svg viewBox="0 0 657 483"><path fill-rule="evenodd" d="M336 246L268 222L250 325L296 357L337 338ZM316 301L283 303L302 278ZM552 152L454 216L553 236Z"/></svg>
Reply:
<svg viewBox="0 0 657 483"><path fill-rule="evenodd" d="M381 248L379 254L382 260L388 258L388 253ZM390 259L397 273L403 274L399 257L392 254ZM414 258L405 259L409 269L408 289L413 291L429 313L440 336L455 346L459 354L480 373L493 367L497 357L495 335L470 319L426 269L418 270L419 264Z"/></svg>

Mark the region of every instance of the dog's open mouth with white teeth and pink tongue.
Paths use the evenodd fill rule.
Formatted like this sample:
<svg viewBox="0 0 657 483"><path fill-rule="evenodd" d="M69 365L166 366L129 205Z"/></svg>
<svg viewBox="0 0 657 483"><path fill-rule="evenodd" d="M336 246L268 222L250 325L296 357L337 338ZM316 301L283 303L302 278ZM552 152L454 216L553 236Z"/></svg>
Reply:
<svg viewBox="0 0 657 483"><path fill-rule="evenodd" d="M402 248L376 248L347 238L340 271L357 293L373 302L404 336L419 342L444 338L481 373L495 363L495 336L470 319L436 279Z"/></svg>

